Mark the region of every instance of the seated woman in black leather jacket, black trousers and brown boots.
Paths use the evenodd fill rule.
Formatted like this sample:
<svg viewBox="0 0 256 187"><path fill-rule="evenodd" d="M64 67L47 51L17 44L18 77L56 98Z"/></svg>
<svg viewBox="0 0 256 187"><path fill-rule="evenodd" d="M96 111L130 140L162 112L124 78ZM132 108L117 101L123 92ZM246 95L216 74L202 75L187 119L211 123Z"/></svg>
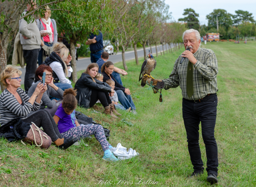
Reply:
<svg viewBox="0 0 256 187"><path fill-rule="evenodd" d="M77 89L76 99L78 105L89 108L95 105L99 99L105 108L103 113L118 118L113 114L112 108L114 108L114 104L109 98L109 93L114 93L114 90L107 83L101 82L95 78L98 74L98 70L98 64L91 63L77 80L75 89Z"/></svg>

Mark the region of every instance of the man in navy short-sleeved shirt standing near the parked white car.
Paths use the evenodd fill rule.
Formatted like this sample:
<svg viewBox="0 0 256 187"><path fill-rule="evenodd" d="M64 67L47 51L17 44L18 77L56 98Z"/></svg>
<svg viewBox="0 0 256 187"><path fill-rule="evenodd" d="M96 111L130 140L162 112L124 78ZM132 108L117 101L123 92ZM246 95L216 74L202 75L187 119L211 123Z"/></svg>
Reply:
<svg viewBox="0 0 256 187"><path fill-rule="evenodd" d="M104 47L102 32L98 30L97 34L91 33L85 44L90 45L91 62L96 63L98 59L101 58L101 54L103 52Z"/></svg>

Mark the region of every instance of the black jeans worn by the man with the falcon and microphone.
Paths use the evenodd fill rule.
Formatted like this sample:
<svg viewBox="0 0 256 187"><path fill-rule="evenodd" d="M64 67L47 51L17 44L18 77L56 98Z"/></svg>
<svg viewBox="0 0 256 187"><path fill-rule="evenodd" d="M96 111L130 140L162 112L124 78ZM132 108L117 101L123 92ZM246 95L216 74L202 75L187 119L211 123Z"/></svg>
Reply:
<svg viewBox="0 0 256 187"><path fill-rule="evenodd" d="M205 144L208 174L218 174L218 149L214 138L217 115L217 96L195 103L183 98L182 113L187 132L189 155L195 172L204 170L199 147L199 123L201 121L202 137Z"/></svg>

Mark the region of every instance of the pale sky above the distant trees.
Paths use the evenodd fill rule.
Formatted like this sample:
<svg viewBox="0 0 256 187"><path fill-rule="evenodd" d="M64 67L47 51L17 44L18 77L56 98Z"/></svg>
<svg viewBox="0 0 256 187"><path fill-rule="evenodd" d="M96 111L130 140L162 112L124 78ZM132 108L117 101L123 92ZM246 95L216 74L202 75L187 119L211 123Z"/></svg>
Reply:
<svg viewBox="0 0 256 187"><path fill-rule="evenodd" d="M256 19L256 0L165 0L165 3L169 4L169 12L172 12L175 21L184 17L182 14L185 8L192 8L199 14L198 20L201 22L201 25L208 25L206 15L219 8L225 9L231 14L235 14L235 10L246 10L252 13L254 20Z"/></svg>

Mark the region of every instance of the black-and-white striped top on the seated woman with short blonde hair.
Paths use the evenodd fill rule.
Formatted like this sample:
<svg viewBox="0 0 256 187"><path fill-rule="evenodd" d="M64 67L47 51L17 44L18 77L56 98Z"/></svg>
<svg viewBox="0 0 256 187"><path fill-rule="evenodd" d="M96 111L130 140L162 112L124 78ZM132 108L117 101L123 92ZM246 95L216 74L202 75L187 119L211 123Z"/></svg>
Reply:
<svg viewBox="0 0 256 187"><path fill-rule="evenodd" d="M36 111L40 108L41 103L36 101L32 105L29 101L30 97L21 88L17 89L17 93L22 100L21 105L15 96L11 94L7 89L0 95L0 124L4 125L14 118L20 117L21 119L27 118L27 115L31 111Z"/></svg>

